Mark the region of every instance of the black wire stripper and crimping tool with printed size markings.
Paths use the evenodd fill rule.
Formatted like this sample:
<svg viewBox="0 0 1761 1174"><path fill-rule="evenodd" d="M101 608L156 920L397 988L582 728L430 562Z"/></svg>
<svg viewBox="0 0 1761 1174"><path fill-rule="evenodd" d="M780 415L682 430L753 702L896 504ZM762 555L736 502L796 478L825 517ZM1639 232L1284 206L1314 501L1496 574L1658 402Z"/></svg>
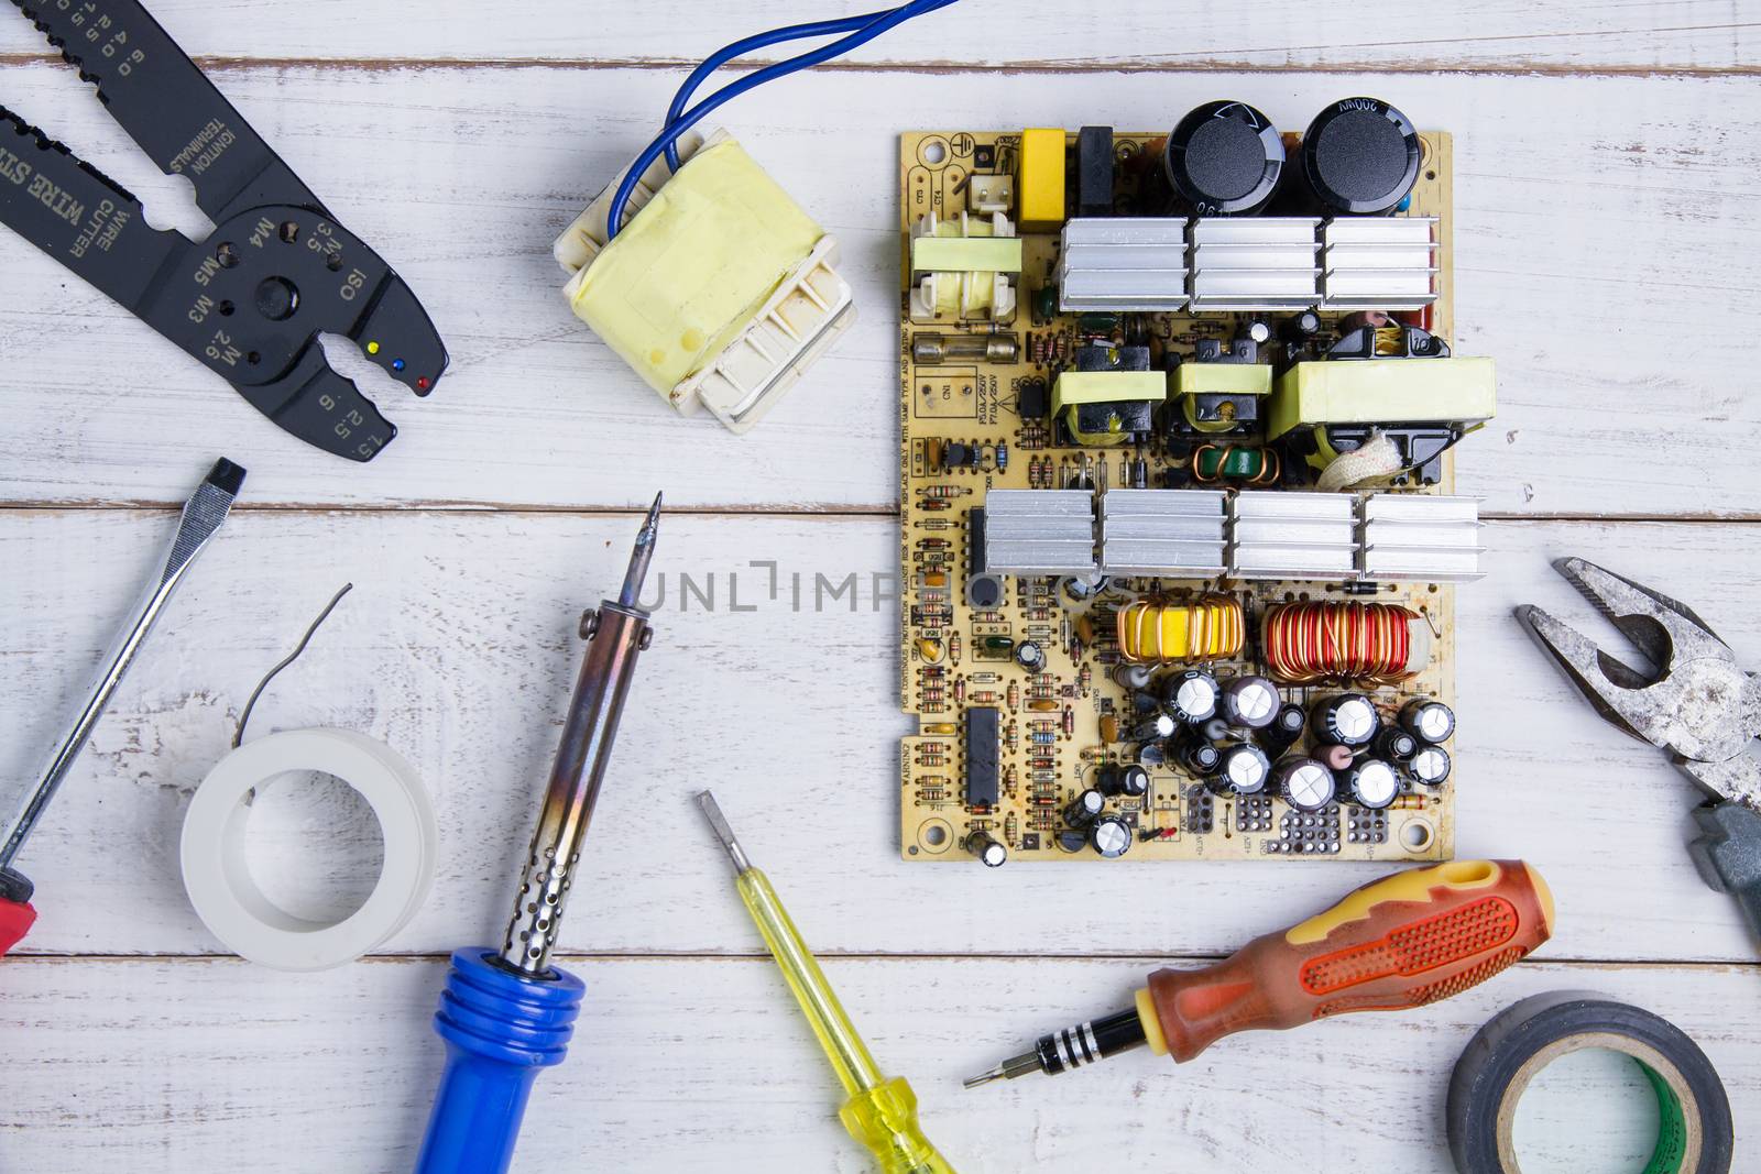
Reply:
<svg viewBox="0 0 1761 1174"><path fill-rule="evenodd" d="M203 243L0 106L0 222L122 303L259 412L326 452L370 461L396 435L319 347L345 334L426 396L446 347L410 287L336 224L134 0L14 0L93 83L111 118L215 222Z"/></svg>

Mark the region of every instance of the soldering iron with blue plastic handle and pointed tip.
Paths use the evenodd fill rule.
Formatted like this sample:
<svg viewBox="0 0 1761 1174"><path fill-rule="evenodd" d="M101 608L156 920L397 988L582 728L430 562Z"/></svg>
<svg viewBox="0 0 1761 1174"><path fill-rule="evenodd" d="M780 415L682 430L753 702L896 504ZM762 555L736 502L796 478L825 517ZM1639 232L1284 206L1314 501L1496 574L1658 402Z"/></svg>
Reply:
<svg viewBox="0 0 1761 1174"><path fill-rule="evenodd" d="M611 764L636 660L653 639L637 605L660 528L660 495L643 519L616 600L581 616L586 657L502 945L453 952L435 1031L447 1061L417 1174L500 1174L539 1068L564 1061L586 986L551 965L593 803Z"/></svg>

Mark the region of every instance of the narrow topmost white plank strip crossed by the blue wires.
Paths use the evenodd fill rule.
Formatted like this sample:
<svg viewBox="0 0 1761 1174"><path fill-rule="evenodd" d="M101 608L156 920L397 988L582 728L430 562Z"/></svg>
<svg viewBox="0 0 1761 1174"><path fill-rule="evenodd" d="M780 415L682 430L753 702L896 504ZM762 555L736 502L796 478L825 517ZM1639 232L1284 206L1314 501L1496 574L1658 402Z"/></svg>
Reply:
<svg viewBox="0 0 1761 1174"><path fill-rule="evenodd" d="M595 7L592 19L565 0L500 11L438 0L409 19L400 0L313 0L289 19L276 0L160 0L153 14L194 55L315 60L574 60L583 63L689 62L761 28L872 4L757 0L740 5L657 0ZM1264 0L1252 9L1201 0L1169 21L1159 0L1106 5L1106 18L1051 4L983 0L921 18L858 49L859 65L942 69L1252 69L1375 72L1752 70L1761 18L1722 0L1587 0L1534 5L1518 0L1433 5L1365 26L1338 9L1303 0ZM796 49L798 51L798 49ZM25 21L0 23L0 55L42 53ZM754 60L775 60L778 49Z"/></svg>

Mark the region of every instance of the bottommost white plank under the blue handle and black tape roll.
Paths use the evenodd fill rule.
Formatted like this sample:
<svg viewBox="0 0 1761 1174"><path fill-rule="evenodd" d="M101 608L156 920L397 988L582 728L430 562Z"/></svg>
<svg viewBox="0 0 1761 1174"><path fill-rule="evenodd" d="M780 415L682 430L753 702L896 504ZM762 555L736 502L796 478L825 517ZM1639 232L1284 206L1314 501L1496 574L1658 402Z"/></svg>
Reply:
<svg viewBox="0 0 1761 1174"><path fill-rule="evenodd" d="M808 885L787 884L778 864L773 880L799 905ZM703 910L743 917L718 880ZM822 926L803 919L808 935ZM838 1126L836 1084L768 961L569 965L588 998L569 1060L537 1079L518 1174L872 1169ZM1097 1153L1116 1170L1446 1174L1442 1105L1462 1047L1502 1007L1560 987L1634 1002L1687 1031L1722 1074L1738 1146L1761 1114L1756 966L1529 963L1446 1003L1238 1035L1182 1067L1134 1053L960 1088L1034 1035L1124 1005L1148 970L1113 959L826 965L882 1070L912 1082L925 1132L963 1174L1095 1170ZM428 1017L442 980L440 961L417 959L321 975L224 959L9 959L0 1156L21 1172L118 1155L132 1174L407 1170L438 1075ZM1615 1068L1544 1100L1537 1091L1523 1169L1639 1169L1655 1141L1636 1135L1641 1119L1587 1134L1573 1116L1622 1079L1631 1072Z"/></svg>

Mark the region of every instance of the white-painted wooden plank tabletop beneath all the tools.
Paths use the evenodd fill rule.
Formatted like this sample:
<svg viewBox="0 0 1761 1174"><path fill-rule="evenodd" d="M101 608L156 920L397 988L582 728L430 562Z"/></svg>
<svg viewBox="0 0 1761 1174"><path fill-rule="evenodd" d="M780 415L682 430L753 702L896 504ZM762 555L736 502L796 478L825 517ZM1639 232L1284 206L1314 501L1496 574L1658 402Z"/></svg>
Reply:
<svg viewBox="0 0 1761 1174"><path fill-rule="evenodd" d="M58 732L171 507L213 456L250 468L19 861L41 921L0 963L0 1169L409 1169L440 1063L428 1017L444 956L498 940L576 618L615 588L634 510L662 486L669 595L565 926L590 998L569 1061L539 1079L516 1169L866 1169L689 804L704 785L962 1170L1448 1170L1458 1051L1497 1009L1562 986L1687 1030L1729 1088L1738 1169L1761 1169L1761 966L1682 848L1696 796L1594 718L1509 618L1536 600L1590 620L1548 569L1583 553L1692 600L1761 665L1761 5L1479 0L1421 18L969 0L905 26L726 109L844 239L861 310L734 438L674 419L569 315L549 239L650 137L683 63L824 7L153 5L403 273L453 368L428 401L370 387L402 433L373 465L345 465L0 232L9 785ZM1456 136L1458 343L1500 370L1499 419L1460 459L1493 519L1493 574L1462 591L1458 850L1536 862L1558 935L1421 1012L1236 1037L1183 1068L1141 1054L962 1091L1034 1033L1120 1005L1155 965L1227 954L1375 869L898 861L896 620L870 586L896 549L895 134L1162 127L1224 95L1300 127L1351 93ZM14 12L0 97L155 222L203 229ZM807 605L791 607L787 579L771 598L755 560L805 576ZM856 607L815 611L815 574L856 574ZM682 607L680 576L715 579L713 611ZM734 576L755 609L729 605ZM342 725L400 748L435 792L444 859L382 954L282 975L204 931L176 840L245 695L345 579L356 593L254 730ZM338 789L266 790L264 885L296 910L347 908L377 859L361 820ZM1610 1095L1631 1079L1580 1075ZM1580 1098L1543 1098L1536 1165L1638 1169L1643 1126L1599 1121Z"/></svg>

